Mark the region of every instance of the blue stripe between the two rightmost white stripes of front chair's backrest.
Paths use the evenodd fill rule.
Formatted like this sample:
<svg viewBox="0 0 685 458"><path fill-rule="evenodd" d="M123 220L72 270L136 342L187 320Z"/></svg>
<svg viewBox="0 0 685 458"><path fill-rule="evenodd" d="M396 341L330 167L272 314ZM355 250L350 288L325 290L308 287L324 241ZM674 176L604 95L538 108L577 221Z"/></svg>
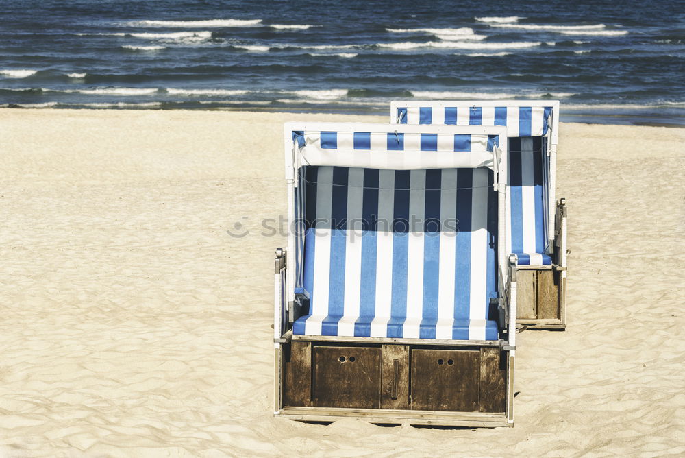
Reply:
<svg viewBox="0 0 685 458"><path fill-rule="evenodd" d="M457 239L454 265L454 317L469 319L471 298L471 197L473 170L457 171ZM455 337L456 338L456 337ZM468 338L468 336L467 336Z"/></svg>

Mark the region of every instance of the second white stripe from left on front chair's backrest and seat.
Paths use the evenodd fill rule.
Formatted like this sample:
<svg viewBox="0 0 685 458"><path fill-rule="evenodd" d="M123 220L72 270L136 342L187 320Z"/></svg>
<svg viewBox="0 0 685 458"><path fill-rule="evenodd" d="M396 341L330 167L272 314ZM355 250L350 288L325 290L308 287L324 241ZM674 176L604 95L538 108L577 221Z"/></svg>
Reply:
<svg viewBox="0 0 685 458"><path fill-rule="evenodd" d="M364 169L350 167L347 176L347 239L345 241L345 298L338 335L354 335L359 317L362 275L362 203Z"/></svg>

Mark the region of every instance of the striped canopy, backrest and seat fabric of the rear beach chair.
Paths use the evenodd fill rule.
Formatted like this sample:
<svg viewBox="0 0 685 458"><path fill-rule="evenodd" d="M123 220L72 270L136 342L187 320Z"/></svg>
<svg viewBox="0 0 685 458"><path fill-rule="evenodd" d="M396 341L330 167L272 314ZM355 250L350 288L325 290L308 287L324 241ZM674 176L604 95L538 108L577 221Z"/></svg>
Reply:
<svg viewBox="0 0 685 458"><path fill-rule="evenodd" d="M422 104L423 106L417 106ZM556 104L556 102L554 103ZM549 160L547 134L552 106L478 105L427 101L393 104L392 121L398 124L503 125L507 128L510 212L507 252L519 256L519 264L551 264L549 231Z"/></svg>

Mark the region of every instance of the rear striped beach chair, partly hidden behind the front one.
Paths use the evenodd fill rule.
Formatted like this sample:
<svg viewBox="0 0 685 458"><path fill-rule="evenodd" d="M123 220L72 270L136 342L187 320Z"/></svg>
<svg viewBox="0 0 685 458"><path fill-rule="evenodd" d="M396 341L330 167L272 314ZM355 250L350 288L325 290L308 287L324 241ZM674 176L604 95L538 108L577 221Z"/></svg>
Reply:
<svg viewBox="0 0 685 458"><path fill-rule="evenodd" d="M566 328L566 200L555 202L559 102L395 101L390 123L506 125L507 250L518 256L517 322Z"/></svg>

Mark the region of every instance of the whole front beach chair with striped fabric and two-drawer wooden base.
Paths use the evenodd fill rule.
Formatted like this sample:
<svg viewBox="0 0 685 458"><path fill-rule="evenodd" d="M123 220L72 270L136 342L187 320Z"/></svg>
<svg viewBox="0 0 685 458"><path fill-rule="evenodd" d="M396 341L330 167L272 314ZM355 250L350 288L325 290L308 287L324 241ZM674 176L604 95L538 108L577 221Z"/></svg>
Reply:
<svg viewBox="0 0 685 458"><path fill-rule="evenodd" d="M502 127L286 123L275 415L513 425L504 138Z"/></svg>

